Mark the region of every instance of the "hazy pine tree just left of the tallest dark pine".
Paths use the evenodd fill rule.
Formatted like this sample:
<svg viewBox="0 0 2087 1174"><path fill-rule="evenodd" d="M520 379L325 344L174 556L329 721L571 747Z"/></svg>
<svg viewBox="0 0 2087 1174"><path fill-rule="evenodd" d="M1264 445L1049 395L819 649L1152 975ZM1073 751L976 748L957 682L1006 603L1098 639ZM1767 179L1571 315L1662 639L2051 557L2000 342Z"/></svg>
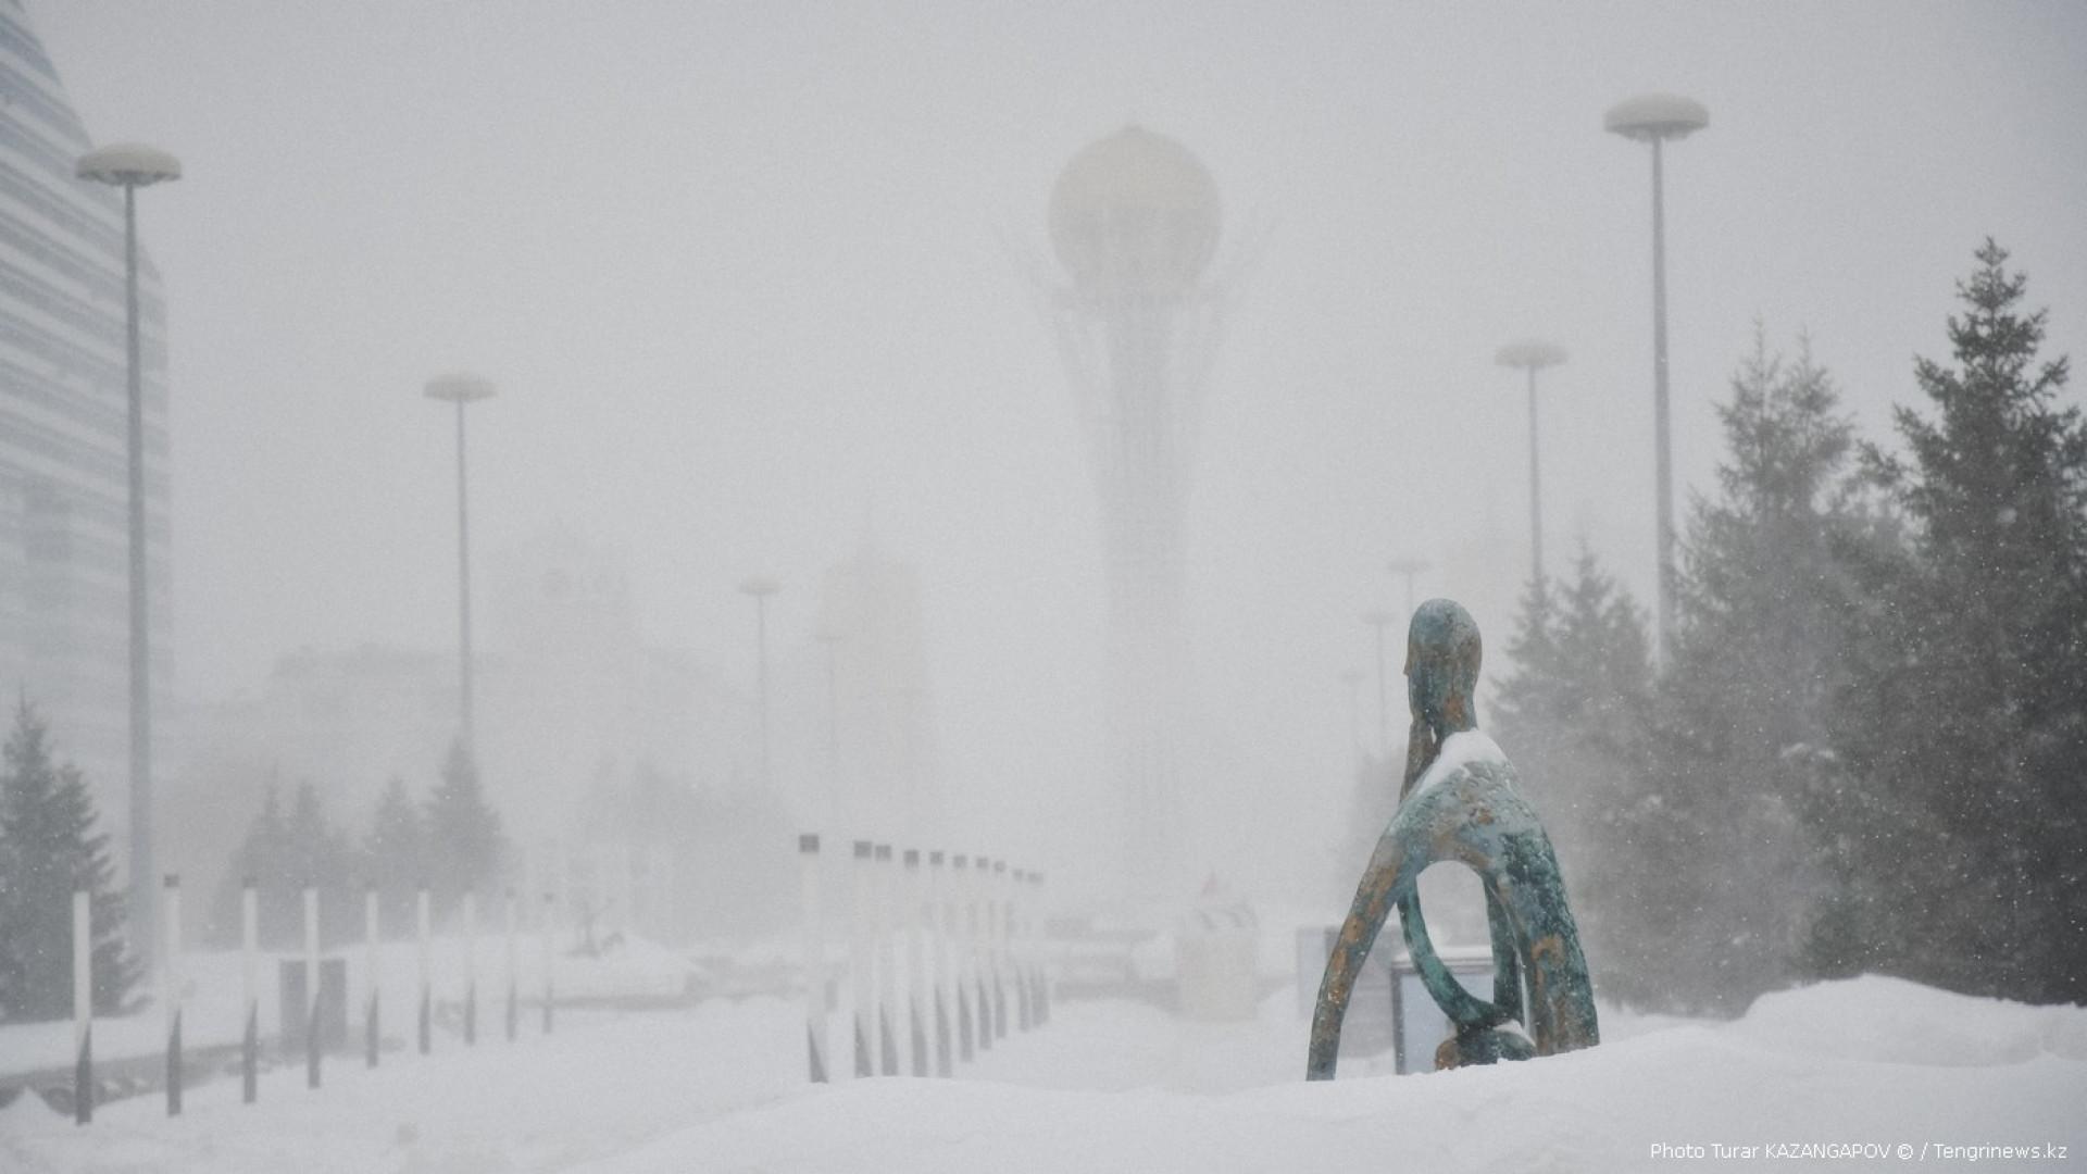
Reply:
<svg viewBox="0 0 2087 1174"><path fill-rule="evenodd" d="M1834 886L1807 815L1816 765L1837 754L1857 606L1841 549L1864 516L1853 426L1807 343L1784 361L1755 330L1718 414L1726 462L1718 497L1690 516L1647 769L1678 850L1665 988L1680 1007L1736 1013L1805 976Z"/></svg>

